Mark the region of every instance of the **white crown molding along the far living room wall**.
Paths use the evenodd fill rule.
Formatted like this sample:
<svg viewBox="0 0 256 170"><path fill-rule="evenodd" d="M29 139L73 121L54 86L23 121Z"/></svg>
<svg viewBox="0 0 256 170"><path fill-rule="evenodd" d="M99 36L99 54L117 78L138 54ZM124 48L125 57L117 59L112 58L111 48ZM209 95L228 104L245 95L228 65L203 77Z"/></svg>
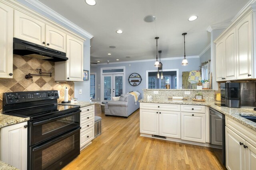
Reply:
<svg viewBox="0 0 256 170"><path fill-rule="evenodd" d="M166 60L180 60L184 57L169 57L169 58L162 58L162 61ZM195 59L199 58L198 55L193 56L186 56L187 59ZM133 61L120 61L120 62L113 62L113 63L99 63L99 64L92 64L91 66L97 66L97 65L106 65L106 64L125 64L125 63L140 63L140 62L148 62L148 61L156 61L156 59L147 59L147 60L133 60Z"/></svg>

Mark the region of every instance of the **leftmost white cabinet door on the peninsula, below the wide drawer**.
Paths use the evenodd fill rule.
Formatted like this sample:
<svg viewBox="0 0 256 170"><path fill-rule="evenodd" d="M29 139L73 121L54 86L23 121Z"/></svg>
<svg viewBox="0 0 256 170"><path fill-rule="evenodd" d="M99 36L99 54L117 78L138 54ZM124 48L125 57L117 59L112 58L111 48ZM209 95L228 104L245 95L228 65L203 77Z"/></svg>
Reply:
<svg viewBox="0 0 256 170"><path fill-rule="evenodd" d="M140 133L159 135L159 111L140 109Z"/></svg>

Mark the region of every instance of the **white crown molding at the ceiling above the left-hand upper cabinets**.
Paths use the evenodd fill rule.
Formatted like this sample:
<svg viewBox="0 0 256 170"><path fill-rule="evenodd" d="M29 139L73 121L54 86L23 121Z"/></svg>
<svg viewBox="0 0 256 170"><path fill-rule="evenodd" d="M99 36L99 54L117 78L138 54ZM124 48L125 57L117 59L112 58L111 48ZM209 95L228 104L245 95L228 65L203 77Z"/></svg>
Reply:
<svg viewBox="0 0 256 170"><path fill-rule="evenodd" d="M38 0L24 0L26 2L28 2L29 4L31 4L32 6L34 6L35 8L37 8L38 10L41 10L43 12L46 12L48 15L50 15L51 17L55 18L56 20L61 21L62 23L64 23L65 25L68 25L69 27L71 27L72 29L78 31L81 35L84 35L88 38L92 38L93 35L91 35L90 33L88 33L87 31L85 31L84 29L82 29L81 27L78 27L76 24L74 24L73 22L71 22L70 20L64 18L63 16L61 16L60 14L58 14L57 12L55 12L54 10L52 10L51 8L49 8L48 6L42 4L42 2L39 2Z"/></svg>

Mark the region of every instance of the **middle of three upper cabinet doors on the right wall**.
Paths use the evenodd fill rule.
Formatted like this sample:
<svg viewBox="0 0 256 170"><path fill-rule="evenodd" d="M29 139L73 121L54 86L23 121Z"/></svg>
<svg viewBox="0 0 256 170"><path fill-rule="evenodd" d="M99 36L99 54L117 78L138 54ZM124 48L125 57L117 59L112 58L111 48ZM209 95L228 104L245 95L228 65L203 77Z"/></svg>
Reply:
<svg viewBox="0 0 256 170"><path fill-rule="evenodd" d="M224 80L236 79L236 29L224 37Z"/></svg>

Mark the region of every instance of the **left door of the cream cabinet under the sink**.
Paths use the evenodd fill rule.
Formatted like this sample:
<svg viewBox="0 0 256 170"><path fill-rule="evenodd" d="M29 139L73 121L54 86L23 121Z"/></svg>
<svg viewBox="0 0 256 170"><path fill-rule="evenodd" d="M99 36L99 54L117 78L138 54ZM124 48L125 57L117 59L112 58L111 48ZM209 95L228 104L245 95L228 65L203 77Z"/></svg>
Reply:
<svg viewBox="0 0 256 170"><path fill-rule="evenodd" d="M240 142L245 140L226 127L226 168L228 170L245 170L245 149Z"/></svg>

